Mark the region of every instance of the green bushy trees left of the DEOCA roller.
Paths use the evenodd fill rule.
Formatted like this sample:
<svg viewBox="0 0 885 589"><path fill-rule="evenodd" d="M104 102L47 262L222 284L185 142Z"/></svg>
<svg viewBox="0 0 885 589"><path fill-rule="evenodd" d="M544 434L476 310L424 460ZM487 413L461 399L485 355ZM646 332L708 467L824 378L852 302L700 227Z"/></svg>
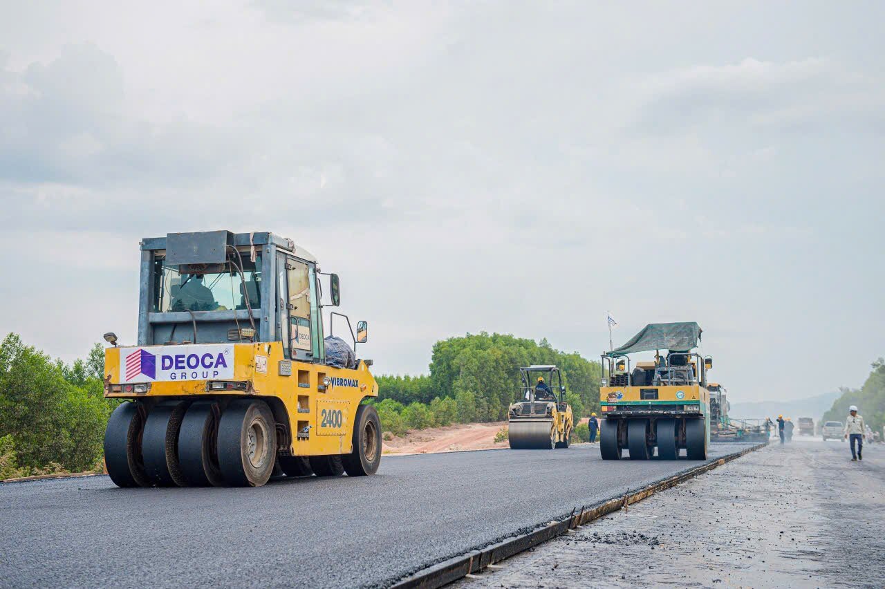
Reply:
<svg viewBox="0 0 885 589"><path fill-rule="evenodd" d="M15 333L0 343L0 478L100 467L104 348L71 364L52 360Z"/></svg>

